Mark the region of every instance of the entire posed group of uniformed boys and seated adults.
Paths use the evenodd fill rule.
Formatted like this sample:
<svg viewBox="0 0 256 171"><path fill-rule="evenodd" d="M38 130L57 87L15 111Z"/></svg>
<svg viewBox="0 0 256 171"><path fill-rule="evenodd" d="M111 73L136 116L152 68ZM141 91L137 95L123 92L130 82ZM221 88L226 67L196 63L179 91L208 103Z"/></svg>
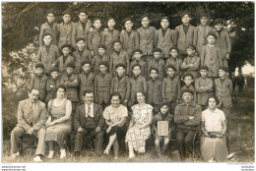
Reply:
<svg viewBox="0 0 256 171"><path fill-rule="evenodd" d="M127 18L119 32L113 18L101 30L101 21L92 24L86 10L78 17L73 24L72 13L65 11L63 23L56 24L54 12L46 14L29 98L19 103L18 125L11 134L13 158L20 156L25 134L38 138L34 161L41 161L45 142L47 158L54 156L53 142L65 158L72 131L75 156L82 154L83 138L91 136L96 154L108 155L113 146L117 159L119 144L125 143L133 158L135 151L146 151L146 141L154 135L159 156L175 137L174 152L187 158L195 135L202 132L205 161L228 157L231 46L224 20L216 19L212 28L203 13L195 28L184 12L175 30L168 28L166 17L157 30L143 16L137 31ZM102 149L104 134L109 141Z"/></svg>

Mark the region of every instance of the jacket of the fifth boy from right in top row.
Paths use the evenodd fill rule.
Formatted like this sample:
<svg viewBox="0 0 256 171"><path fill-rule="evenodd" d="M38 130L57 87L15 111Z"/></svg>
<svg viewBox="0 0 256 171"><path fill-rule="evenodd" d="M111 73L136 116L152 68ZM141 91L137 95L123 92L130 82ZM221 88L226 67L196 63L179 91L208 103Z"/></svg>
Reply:
<svg viewBox="0 0 256 171"><path fill-rule="evenodd" d="M141 27L137 29L139 37L139 48L142 50L142 55L153 55L153 49L156 44L156 31L154 27L149 27L147 29Z"/></svg>

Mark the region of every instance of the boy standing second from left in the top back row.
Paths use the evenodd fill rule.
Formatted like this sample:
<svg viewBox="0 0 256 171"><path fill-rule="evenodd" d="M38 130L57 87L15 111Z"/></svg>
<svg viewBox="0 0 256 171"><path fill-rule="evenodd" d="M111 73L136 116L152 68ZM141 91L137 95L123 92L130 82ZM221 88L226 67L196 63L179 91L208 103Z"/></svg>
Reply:
<svg viewBox="0 0 256 171"><path fill-rule="evenodd" d="M72 44L72 29L73 29L73 22L71 21L72 13L70 11L64 11L62 13L63 22L58 25L58 32L59 32L59 40L58 40L58 47L65 43Z"/></svg>

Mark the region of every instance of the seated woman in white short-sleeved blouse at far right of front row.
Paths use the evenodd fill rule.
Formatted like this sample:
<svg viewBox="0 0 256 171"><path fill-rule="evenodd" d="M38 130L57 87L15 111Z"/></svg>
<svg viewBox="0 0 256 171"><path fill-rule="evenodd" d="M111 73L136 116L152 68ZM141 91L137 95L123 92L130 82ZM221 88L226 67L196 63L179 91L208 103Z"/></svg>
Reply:
<svg viewBox="0 0 256 171"><path fill-rule="evenodd" d="M208 109L202 112L201 154L205 161L224 161L227 157L224 112L218 109L216 96L208 98Z"/></svg>

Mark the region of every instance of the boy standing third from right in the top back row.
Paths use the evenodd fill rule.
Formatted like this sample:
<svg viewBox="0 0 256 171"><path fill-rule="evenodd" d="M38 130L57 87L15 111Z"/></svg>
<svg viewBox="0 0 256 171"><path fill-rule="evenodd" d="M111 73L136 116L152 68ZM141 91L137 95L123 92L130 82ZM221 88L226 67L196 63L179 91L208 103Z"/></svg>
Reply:
<svg viewBox="0 0 256 171"><path fill-rule="evenodd" d="M188 44L193 44L195 27L189 24L191 18L188 12L183 12L181 15L182 25L175 28L173 45L178 48L182 59L186 56L186 47Z"/></svg>

